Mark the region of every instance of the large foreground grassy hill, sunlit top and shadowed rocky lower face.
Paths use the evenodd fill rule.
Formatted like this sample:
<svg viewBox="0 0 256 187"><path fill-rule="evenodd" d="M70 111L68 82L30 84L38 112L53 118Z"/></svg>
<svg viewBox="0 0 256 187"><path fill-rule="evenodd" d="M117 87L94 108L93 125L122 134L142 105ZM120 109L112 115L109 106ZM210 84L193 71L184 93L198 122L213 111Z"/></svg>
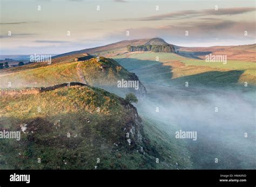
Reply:
<svg viewBox="0 0 256 187"><path fill-rule="evenodd" d="M159 153L154 144L151 146L144 139L136 109L126 105L112 93L80 86L36 95L2 96L1 129L20 131L21 124L27 124L27 129L22 132L21 141L0 141L0 168L157 168L155 159ZM129 146L125 134L132 126L135 133L134 138L130 133ZM142 142L136 138L139 130ZM137 152L140 146L145 154ZM41 163L37 163L38 158ZM97 158L100 163L96 163Z"/></svg>

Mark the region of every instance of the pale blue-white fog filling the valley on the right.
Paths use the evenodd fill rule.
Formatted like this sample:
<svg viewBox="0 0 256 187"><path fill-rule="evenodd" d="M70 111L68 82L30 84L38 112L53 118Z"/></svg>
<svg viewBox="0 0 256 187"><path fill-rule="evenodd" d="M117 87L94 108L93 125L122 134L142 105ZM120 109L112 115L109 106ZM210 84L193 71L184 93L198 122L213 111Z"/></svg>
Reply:
<svg viewBox="0 0 256 187"><path fill-rule="evenodd" d="M164 123L159 128L172 138L173 126L197 132L196 140L180 139L187 143L194 169L256 168L255 91L145 87L148 96L136 105L139 114Z"/></svg>

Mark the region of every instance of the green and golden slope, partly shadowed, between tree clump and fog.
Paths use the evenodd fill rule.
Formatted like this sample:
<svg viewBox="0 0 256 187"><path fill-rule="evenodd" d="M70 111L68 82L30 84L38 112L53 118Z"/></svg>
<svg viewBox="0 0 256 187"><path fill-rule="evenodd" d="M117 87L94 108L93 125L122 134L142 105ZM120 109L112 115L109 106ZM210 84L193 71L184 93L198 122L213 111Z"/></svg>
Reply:
<svg viewBox="0 0 256 187"><path fill-rule="evenodd" d="M159 57L159 62L156 61L156 56ZM125 68L134 71L143 82L150 82L149 79L151 79L152 83L156 83L153 80L159 81L158 76L167 76L170 84L173 85L184 84L185 80L192 81L193 79L194 82L203 84L214 80L218 84L225 78L234 77L234 80L227 82L243 84L247 81L249 84L256 84L254 62L228 60L227 64L210 63L204 60L187 59L174 53L148 52L123 54L114 56L113 59ZM151 72L151 74L146 74L146 72ZM215 78L212 77L214 74Z"/></svg>

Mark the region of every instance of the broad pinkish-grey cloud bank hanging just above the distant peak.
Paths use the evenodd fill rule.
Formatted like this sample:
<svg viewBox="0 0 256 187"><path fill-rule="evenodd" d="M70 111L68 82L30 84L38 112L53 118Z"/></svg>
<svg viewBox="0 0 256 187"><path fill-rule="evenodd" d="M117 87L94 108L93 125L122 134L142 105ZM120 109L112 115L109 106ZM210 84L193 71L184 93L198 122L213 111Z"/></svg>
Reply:
<svg viewBox="0 0 256 187"><path fill-rule="evenodd" d="M106 38L117 40L131 40L142 38L163 38L170 44L188 46L190 44L216 45L241 45L255 43L255 20L252 21L191 21L187 20L176 25L144 26L138 28L126 28L114 34L109 33ZM125 32L129 31L129 37ZM188 31L188 35L185 32ZM245 31L248 35L245 36ZM226 43L225 43L226 41ZM194 45L195 46L195 45Z"/></svg>

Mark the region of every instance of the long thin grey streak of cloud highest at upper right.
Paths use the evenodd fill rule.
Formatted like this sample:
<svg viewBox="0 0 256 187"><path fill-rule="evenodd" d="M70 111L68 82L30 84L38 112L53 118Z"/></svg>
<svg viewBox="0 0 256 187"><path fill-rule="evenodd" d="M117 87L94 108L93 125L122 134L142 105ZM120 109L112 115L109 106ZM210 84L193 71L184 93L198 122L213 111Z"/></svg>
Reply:
<svg viewBox="0 0 256 187"><path fill-rule="evenodd" d="M191 18L191 17L213 16L213 15L215 15L215 16L239 15L241 13L252 12L252 11L255 11L255 10L256 10L256 8L251 8L251 7L226 8L226 9L218 9L218 10L214 10L214 9L183 10L183 11L165 13L165 14L162 14L162 15L154 15L154 16L142 17L142 18L128 18L128 19L121 19L121 20L156 21L156 20L185 19L185 18Z"/></svg>

